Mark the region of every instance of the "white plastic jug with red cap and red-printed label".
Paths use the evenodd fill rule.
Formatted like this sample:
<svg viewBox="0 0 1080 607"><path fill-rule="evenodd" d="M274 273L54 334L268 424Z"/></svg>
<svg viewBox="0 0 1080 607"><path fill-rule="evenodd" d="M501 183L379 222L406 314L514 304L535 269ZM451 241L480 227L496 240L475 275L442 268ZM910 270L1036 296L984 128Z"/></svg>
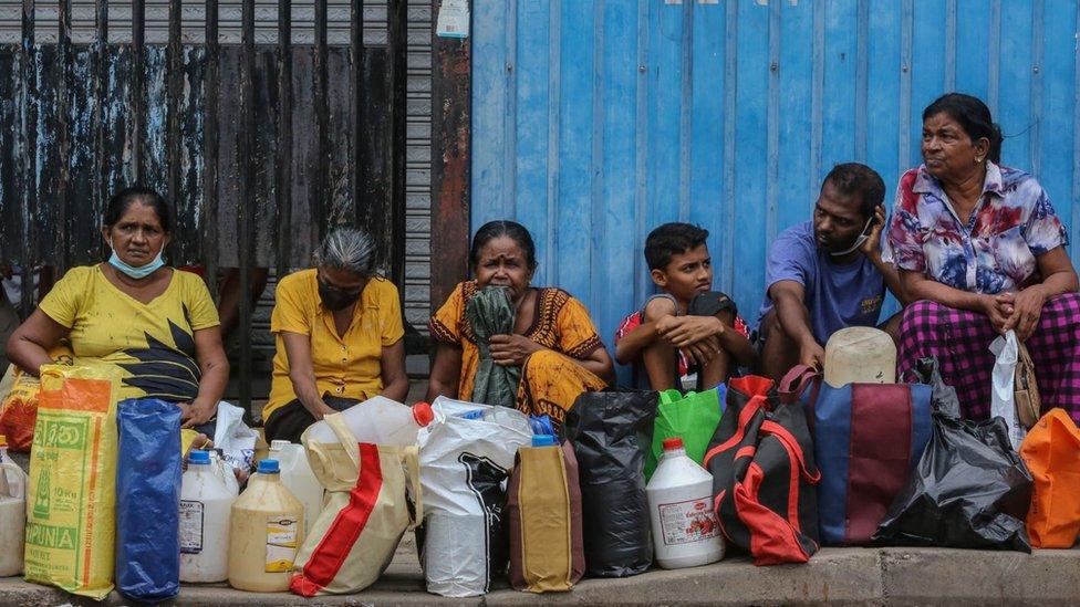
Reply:
<svg viewBox="0 0 1080 607"><path fill-rule="evenodd" d="M713 475L686 457L683 439L664 441L664 454L645 494L656 564L678 569L724 558L724 537L713 512Z"/></svg>

